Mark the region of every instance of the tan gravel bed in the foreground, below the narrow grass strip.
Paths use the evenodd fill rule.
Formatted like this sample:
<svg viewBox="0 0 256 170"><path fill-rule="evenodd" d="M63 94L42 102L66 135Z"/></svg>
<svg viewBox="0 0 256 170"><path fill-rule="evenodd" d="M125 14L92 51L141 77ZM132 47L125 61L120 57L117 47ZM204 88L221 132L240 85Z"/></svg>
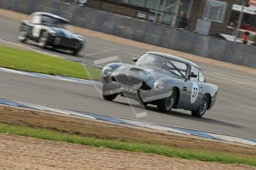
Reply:
<svg viewBox="0 0 256 170"><path fill-rule="evenodd" d="M0 135L0 169L256 169Z"/></svg>

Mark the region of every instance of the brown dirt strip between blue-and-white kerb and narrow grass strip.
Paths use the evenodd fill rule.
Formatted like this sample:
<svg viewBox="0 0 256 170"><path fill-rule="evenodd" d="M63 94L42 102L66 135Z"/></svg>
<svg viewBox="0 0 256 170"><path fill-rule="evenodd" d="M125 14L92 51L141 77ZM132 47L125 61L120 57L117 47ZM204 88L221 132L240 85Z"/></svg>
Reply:
<svg viewBox="0 0 256 170"><path fill-rule="evenodd" d="M21 126L42 127L85 137L159 144L180 149L218 152L232 154L234 156L256 158L256 147L253 146L205 140L204 138L193 137L191 135L135 129L129 126L119 126L98 120L71 118L63 115L52 115L8 106L0 106L0 122Z"/></svg>

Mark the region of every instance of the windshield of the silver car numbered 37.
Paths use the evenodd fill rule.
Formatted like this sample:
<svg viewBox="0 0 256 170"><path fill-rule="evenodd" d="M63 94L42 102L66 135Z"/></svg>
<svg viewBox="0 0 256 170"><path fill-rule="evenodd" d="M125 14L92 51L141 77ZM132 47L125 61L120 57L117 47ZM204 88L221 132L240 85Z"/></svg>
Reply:
<svg viewBox="0 0 256 170"><path fill-rule="evenodd" d="M186 78L188 65L180 61L175 61L171 58L165 58L160 55L145 54L138 61L137 65L147 65L150 67L164 69L174 75Z"/></svg>

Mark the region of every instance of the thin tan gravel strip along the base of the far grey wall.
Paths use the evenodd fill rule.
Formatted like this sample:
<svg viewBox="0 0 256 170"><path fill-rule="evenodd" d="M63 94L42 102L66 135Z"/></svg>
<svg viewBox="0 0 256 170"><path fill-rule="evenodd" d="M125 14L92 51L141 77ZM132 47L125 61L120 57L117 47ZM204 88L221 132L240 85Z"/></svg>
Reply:
<svg viewBox="0 0 256 170"><path fill-rule="evenodd" d="M11 10L3 10L0 9L0 16L5 16L5 17L9 17L9 18L16 18L16 19L20 19L20 20L24 20L28 18L28 15L24 14L24 13L16 13L14 11ZM93 38L99 38L99 39L104 39L107 41L113 41L119 44L129 44L130 46L133 47L140 47L142 49L145 50L149 50L149 51L157 51L157 52L165 52L171 55L177 55L180 56L182 58L186 58L188 60L191 61L197 61L200 63L205 63L205 64L212 64L214 66L219 66L219 67L225 67L228 69L234 69L234 70L238 70L238 71L242 71L242 72L248 72L251 74L255 74L256 75L256 69L252 68L252 67L246 67L246 66L241 66L241 65L237 65L237 64L231 64L231 63L227 63L227 62L223 62L223 61L217 61L211 58L203 58L200 57L198 55L191 55L188 54L186 52L179 52L176 50L170 50L167 48L163 48L163 47L157 47L154 45L150 45L150 44L145 44L142 42L138 42L138 41L132 41L130 39L127 38L121 38L118 36L114 36L114 35L108 35L105 33L99 33L93 30L88 30L82 27L73 27L73 31L75 33L79 33L85 36L90 36Z"/></svg>

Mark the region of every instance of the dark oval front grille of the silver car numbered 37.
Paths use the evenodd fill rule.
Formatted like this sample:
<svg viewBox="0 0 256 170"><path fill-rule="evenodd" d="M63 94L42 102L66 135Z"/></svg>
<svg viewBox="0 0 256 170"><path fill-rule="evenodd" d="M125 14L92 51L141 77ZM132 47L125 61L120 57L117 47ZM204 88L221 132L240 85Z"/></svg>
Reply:
<svg viewBox="0 0 256 170"><path fill-rule="evenodd" d="M135 88L138 88L138 89L144 89L144 90L151 89L151 87L148 86L140 78L134 78L128 75L116 75L116 76L113 76L111 80L119 84L134 86Z"/></svg>

